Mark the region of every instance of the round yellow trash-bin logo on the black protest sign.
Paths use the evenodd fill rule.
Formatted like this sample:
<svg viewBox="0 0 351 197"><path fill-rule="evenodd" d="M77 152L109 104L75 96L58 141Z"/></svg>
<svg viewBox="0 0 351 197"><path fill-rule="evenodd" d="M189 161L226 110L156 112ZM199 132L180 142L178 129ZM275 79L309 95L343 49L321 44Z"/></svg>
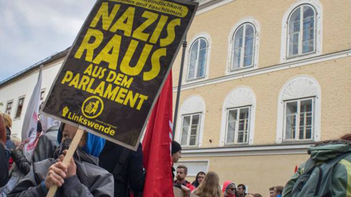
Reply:
<svg viewBox="0 0 351 197"><path fill-rule="evenodd" d="M96 118L104 110L104 102L98 96L88 97L82 105L82 113L87 118Z"/></svg>

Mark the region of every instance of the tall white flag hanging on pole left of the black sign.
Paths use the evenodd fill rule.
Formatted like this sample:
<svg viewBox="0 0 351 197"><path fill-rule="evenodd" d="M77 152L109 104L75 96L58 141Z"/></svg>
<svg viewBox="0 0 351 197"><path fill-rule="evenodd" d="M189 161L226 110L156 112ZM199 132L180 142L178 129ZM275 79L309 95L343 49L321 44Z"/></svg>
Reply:
<svg viewBox="0 0 351 197"><path fill-rule="evenodd" d="M40 106L40 91L42 66L40 66L37 84L35 84L33 94L29 100L26 115L22 126L22 140L29 139L24 147L24 154L28 161L32 161L33 151L35 148L35 138L37 136L38 113Z"/></svg>

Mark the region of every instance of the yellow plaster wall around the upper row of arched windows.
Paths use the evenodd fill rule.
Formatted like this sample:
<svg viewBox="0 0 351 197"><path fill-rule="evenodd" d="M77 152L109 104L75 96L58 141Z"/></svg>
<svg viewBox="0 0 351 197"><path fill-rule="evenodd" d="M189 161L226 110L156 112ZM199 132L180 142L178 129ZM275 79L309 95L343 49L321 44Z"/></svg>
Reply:
<svg viewBox="0 0 351 197"><path fill-rule="evenodd" d="M195 16L189 29L187 41L196 34L206 32L212 40L209 77L213 79L225 74L228 54L228 37L234 25L245 17L254 17L260 23L258 68L280 63L282 19L284 13L296 0L235 0L231 3ZM351 18L350 1L320 0L323 7L323 54L350 49ZM191 43L188 43L187 50ZM181 50L173 64L173 86L179 77ZM184 72L187 70L185 62Z"/></svg>

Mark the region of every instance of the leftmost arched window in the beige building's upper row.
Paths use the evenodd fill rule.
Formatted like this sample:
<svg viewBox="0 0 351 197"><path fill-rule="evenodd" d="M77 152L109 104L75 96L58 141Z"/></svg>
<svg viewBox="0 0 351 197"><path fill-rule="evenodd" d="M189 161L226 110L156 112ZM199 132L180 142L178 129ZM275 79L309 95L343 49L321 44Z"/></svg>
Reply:
<svg viewBox="0 0 351 197"><path fill-rule="evenodd" d="M190 47L187 80L199 79L205 76L208 43L206 39L195 40Z"/></svg>

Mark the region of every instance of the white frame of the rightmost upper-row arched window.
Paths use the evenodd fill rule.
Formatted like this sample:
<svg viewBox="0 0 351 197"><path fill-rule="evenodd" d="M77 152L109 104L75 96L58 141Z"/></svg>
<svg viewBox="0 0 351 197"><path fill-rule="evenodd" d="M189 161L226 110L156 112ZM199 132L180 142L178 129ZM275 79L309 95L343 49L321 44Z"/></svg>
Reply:
<svg viewBox="0 0 351 197"><path fill-rule="evenodd" d="M303 16L304 16L304 7L305 6L308 6L310 7L314 14L313 14L313 51L311 52L307 52L307 53L303 53L302 50L303 50ZM290 18L291 18L291 15L298 9L300 8L300 32L299 32L299 43L298 43L298 53L295 54L295 55L289 55L289 42L290 42L290 35L289 35L289 32L290 32ZM293 11L290 13L289 15L289 18L287 20L287 35L286 35L286 58L294 58L294 57L297 57L297 56L302 56L302 55L308 55L308 54L311 54L311 53L316 53L316 18L317 18L317 14L316 14L316 9L314 9L313 6L309 5L309 4L302 4L302 5L299 5L298 7L296 7L295 9L293 9Z"/></svg>

